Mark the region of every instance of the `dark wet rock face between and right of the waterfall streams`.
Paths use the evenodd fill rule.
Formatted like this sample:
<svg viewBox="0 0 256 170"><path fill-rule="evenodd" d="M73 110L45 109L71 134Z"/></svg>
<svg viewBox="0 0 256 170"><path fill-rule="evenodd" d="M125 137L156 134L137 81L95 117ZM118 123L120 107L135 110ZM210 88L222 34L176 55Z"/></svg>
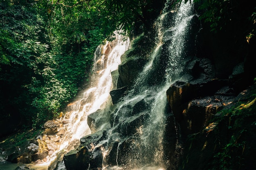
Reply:
<svg viewBox="0 0 256 170"><path fill-rule="evenodd" d="M173 17L171 13L168 15ZM210 120L218 117L223 109L232 107L232 103L238 100L236 96L239 92L248 85L252 85L252 79L246 72L252 69L252 65L244 63L241 56L241 53L247 51L246 44L241 43L240 47L243 50L237 52L237 45L232 46L234 42L228 39L231 35L229 37L223 36L223 33L212 35L204 29L206 25L200 23L196 15L191 18L190 24L191 32L188 35L188 43L185 45L187 55L182 61L185 63L182 75L179 80L170 84L166 94L163 94L166 95L164 98L167 100L167 107L162 106L165 107L165 131L161 147L164 148L166 169L172 170L182 169L182 167L185 167L184 169L207 167L204 161L211 161L213 152L221 148L216 138L218 135L222 137L228 134L228 126L225 122L218 124ZM166 23L164 26L168 27ZM166 51L171 44L172 32L173 30L169 29L164 33L162 51L157 53L151 66L150 77L145 80L145 83L152 85L151 88L157 88L168 74L165 72L167 67L165 64L169 57ZM135 39L132 49L122 56L118 73L112 73L114 84L116 84L110 92L113 108L120 100L125 100L126 95L129 95L128 90L134 85L138 74L148 62L147 52L152 52L153 47L155 46L152 43L152 37L140 35ZM150 98L153 98L154 94L150 95L146 96L147 99L130 102L114 109L110 114L106 113L110 115L106 131L97 131L81 138L79 148L72 150L64 157L67 170L88 169L89 166L90 169L99 169L103 166L131 169L135 167L126 165L130 165L129 161L134 159L136 159L134 165L143 165L145 159L140 159L141 150L143 150L141 136L142 129L150 117L148 106L153 103ZM99 129L98 127L101 126L101 120L97 119L97 114L100 112L104 111L97 111L88 117L91 129L95 127ZM225 121L228 122L228 120ZM218 133L216 132L218 128L224 128L224 130ZM111 130L108 131L109 129ZM211 133L213 131L218 135ZM227 144L226 137L221 141ZM104 148L109 149L104 150ZM194 158L193 153L196 154ZM207 154L210 156L208 157ZM151 156L147 155L147 158L151 159Z"/></svg>

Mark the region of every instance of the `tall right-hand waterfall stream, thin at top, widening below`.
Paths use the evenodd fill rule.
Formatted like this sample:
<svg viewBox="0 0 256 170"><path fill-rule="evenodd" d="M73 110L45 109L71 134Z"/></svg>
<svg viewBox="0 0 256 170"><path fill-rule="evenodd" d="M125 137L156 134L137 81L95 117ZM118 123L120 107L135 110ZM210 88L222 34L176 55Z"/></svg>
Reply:
<svg viewBox="0 0 256 170"><path fill-rule="evenodd" d="M168 7L164 9L166 13L163 13L156 23L158 29L158 40L156 41L155 49L150 54L150 58L145 64L143 70L134 81L134 85L129 89L127 95L117 104L115 112L113 113L113 125L108 131L109 141L104 141L108 143L106 144L107 147L104 148L103 152L102 167L104 170L165 170L167 166L166 161L164 161L163 145L166 121L165 109L167 104L166 90L182 71L182 52L184 48L186 29L192 15L190 15L191 4L181 4L180 9L175 15L175 24L170 25L170 28L167 28L170 29L168 31L171 31L172 37L170 38L171 44L168 46L168 56L170 56L170 58L166 63L168 65L165 70L166 79L162 84L151 86L150 84L147 84L146 80L152 76L150 72L154 67L154 61L159 60L162 46L165 43L163 42L163 35L166 30L162 28L162 22L164 22L164 17L167 16L168 13L173 13L173 11L167 11ZM148 104L148 108L145 109L145 111L142 109L139 113L136 113L137 115L130 115L130 109L141 101ZM146 118L146 122L142 125L139 124L135 129L137 133L134 135L138 135L139 137L133 138L128 135L127 129L130 128L128 124L129 122L136 120L136 116L141 115L148 117ZM140 120L138 119L137 121ZM120 126L124 129L125 133L119 131ZM125 144L127 147L130 146L132 148L131 152L134 153L130 153L128 151L124 158L124 155L119 155L119 152L122 152L119 146L123 145L123 142L126 142L129 138L132 138L131 144ZM111 142L113 141L118 142L118 146L116 148L117 151L115 153L116 166L104 163L104 158L112 149L111 147L108 148L108 146L111 146ZM121 162L120 159L122 159Z"/></svg>

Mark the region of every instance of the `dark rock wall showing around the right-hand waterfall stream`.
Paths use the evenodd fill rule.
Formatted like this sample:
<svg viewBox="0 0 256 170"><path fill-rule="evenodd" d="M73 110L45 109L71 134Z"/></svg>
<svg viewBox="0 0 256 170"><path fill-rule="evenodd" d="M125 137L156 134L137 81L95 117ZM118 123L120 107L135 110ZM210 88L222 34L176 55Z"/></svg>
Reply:
<svg viewBox="0 0 256 170"><path fill-rule="evenodd" d="M235 127L237 122L231 116L220 115L220 113L226 113L226 109L234 108L235 103L240 100L239 95L241 96L241 94L239 93L253 85L255 73L249 76L248 73L252 72L252 63L248 63L248 60L254 61L252 46L255 44L253 41L252 44L247 44L241 40L240 38L243 37L241 32L238 32L240 35L237 43L232 38L233 31L228 34L226 31L213 34L209 30L207 24L201 23L197 16L192 18L189 39L185 45L187 53L184 57L184 72L180 80L171 84L166 92L168 107L163 147L166 159L164 161L167 162L166 169L168 170L228 168L230 163L223 162L226 161L225 155L223 155L225 153L221 152L223 147L230 149L228 156L240 156L241 159L247 159L244 163L255 167L255 163L249 163L252 160L248 156L249 150L245 149L247 145L241 141L242 139L248 141L248 149L255 150L255 147L252 146L255 135L252 135L253 139L248 139L249 133L252 133L255 128L248 131L249 126L245 124L245 120L248 118L253 118L254 121L250 120L249 123L255 124L255 115L251 113L253 111L251 110L249 117L242 119L243 123L239 127ZM154 48L154 38L152 37L148 34L137 37L133 41L132 48L122 56L118 73L112 73L116 83L116 86L114 85L116 89L110 92L114 105L126 95L148 61L148 54ZM170 43L170 39L166 33L162 46L163 52L158 56L160 60L155 63L157 66L153 66L155 68L151 73L152 76L146 81L150 85L161 84L162 78L166 74L164 63L168 58L168 53L165 52L168 43ZM248 50L249 53L247 53ZM254 101L252 98L254 89L255 87L252 86L252 89L249 90L251 93L244 100L249 103ZM141 135L139 129L148 117L148 114L143 112L147 105L147 102L140 100L123 108L129 110L124 113L130 114L130 118L125 121L110 113L110 126L108 127L117 123L115 121L124 121L114 131L126 136L126 140L122 142L115 140L118 137L114 135L108 138L110 140L108 147L111 148L109 151L111 153L106 153L108 155L104 159L106 162L103 162L102 158L106 150L102 150L99 145L99 141L106 138L106 131L98 131L98 133L81 138L80 147L64 156L67 170L74 167L97 169L103 165L125 167L128 158L139 153L139 147L135 146L133 141L139 140L139 135ZM97 117L97 113L93 113L88 118L89 123L92 124L91 127L100 126L95 117ZM213 121L216 118L219 120ZM230 126L231 124L234 129ZM247 129L241 128L241 126L245 126ZM177 136L173 136L174 133L177 133ZM244 134L246 135L244 136ZM228 148L230 145L227 146L227 144L229 143L234 148L239 144L239 149ZM232 149L234 152L240 152L240 155L234 153ZM230 159L230 161L234 162L234 165L237 165L236 162L240 162L240 167L243 166L242 161L236 160L236 158ZM140 163L139 160L136 163ZM213 165L214 163L216 165Z"/></svg>

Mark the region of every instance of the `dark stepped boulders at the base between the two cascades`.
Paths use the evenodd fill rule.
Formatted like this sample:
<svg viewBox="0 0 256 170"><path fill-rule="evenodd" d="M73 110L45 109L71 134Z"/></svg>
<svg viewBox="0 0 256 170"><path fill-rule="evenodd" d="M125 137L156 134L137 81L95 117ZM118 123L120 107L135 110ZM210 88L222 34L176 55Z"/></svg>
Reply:
<svg viewBox="0 0 256 170"><path fill-rule="evenodd" d="M147 104L142 99L123 109L126 110L125 113L130 114L130 118L124 119L112 115L111 127L117 125L111 131L112 135L107 136L108 131L97 131L92 135L82 137L79 148L64 156L67 170L88 169L89 167L92 170L97 170L102 168L105 163L112 166L126 165L129 157L136 155L137 151L139 153L139 146L133 141L139 139L141 135L139 129L148 118ZM127 109L130 109L130 111L127 111ZM93 121L90 122L93 124ZM120 135L125 136L124 141L120 141ZM104 149L106 145L108 145L109 150Z"/></svg>

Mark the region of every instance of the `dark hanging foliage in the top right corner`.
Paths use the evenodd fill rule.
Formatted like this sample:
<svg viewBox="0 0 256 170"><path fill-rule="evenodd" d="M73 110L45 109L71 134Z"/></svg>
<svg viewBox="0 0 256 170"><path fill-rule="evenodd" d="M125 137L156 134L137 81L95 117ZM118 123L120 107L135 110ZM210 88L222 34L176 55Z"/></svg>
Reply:
<svg viewBox="0 0 256 170"><path fill-rule="evenodd" d="M229 27L232 28L231 31L234 31L239 29L236 28L239 26L238 24L245 25L251 22L250 26L247 27L249 33L255 23L256 9L254 4L248 1L194 0L193 2L198 5L199 19L209 23L213 33L227 30Z"/></svg>

